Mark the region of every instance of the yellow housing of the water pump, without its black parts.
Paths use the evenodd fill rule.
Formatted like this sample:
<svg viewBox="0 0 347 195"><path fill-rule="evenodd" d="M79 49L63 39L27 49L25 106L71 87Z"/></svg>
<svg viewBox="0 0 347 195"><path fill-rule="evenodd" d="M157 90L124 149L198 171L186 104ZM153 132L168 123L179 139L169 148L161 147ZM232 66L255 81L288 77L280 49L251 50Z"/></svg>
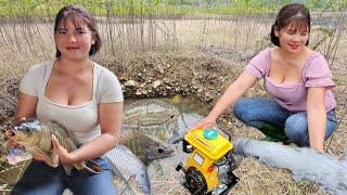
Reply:
<svg viewBox="0 0 347 195"><path fill-rule="evenodd" d="M219 183L218 170L214 162L232 150L232 144L220 133L214 139L206 139L204 130L193 129L184 135L184 140L194 148L187 160L185 168L195 167L198 169L205 177L207 191L210 191Z"/></svg>

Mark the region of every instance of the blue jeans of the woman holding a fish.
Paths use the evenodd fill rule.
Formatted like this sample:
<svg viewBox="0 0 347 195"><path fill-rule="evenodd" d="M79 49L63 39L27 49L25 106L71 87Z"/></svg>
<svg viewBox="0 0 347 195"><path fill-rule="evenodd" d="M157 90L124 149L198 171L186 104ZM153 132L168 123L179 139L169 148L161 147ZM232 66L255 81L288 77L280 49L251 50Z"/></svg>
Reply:
<svg viewBox="0 0 347 195"><path fill-rule="evenodd" d="M73 169L70 176L67 176L62 166L52 168L33 160L11 194L61 195L67 187L75 195L117 194L107 161L103 158L94 158L94 161L102 166L101 173L87 174Z"/></svg>

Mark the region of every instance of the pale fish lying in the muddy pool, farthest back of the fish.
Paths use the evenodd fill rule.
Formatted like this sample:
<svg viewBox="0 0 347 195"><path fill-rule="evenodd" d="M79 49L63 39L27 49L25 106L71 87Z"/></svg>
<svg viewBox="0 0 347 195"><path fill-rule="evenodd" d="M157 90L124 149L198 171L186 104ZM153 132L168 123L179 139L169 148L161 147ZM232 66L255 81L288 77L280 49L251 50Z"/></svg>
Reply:
<svg viewBox="0 0 347 195"><path fill-rule="evenodd" d="M130 127L151 127L177 121L179 109L160 100L139 100L126 105L123 123Z"/></svg>

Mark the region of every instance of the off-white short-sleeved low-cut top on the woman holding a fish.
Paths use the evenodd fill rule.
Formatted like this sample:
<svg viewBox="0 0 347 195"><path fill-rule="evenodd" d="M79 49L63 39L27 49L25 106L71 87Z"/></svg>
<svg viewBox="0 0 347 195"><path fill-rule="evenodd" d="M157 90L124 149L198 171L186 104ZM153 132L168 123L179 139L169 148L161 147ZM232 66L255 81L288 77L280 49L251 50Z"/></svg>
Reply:
<svg viewBox="0 0 347 195"><path fill-rule="evenodd" d="M118 78L94 63L92 100L82 105L62 105L44 95L52 67L52 62L33 66L24 76L20 91L38 98L36 114L39 120L59 122L72 132L80 144L89 142L101 134L99 103L124 101Z"/></svg>

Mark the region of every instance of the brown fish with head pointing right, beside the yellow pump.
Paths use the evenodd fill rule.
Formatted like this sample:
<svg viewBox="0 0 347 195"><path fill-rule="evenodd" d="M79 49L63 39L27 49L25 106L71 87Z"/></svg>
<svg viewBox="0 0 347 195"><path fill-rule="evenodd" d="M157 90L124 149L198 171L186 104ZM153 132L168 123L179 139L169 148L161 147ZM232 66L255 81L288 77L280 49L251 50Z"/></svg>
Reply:
<svg viewBox="0 0 347 195"><path fill-rule="evenodd" d="M127 146L145 165L156 159L172 156L175 152L171 144L145 134L139 129L123 130L118 143Z"/></svg>

